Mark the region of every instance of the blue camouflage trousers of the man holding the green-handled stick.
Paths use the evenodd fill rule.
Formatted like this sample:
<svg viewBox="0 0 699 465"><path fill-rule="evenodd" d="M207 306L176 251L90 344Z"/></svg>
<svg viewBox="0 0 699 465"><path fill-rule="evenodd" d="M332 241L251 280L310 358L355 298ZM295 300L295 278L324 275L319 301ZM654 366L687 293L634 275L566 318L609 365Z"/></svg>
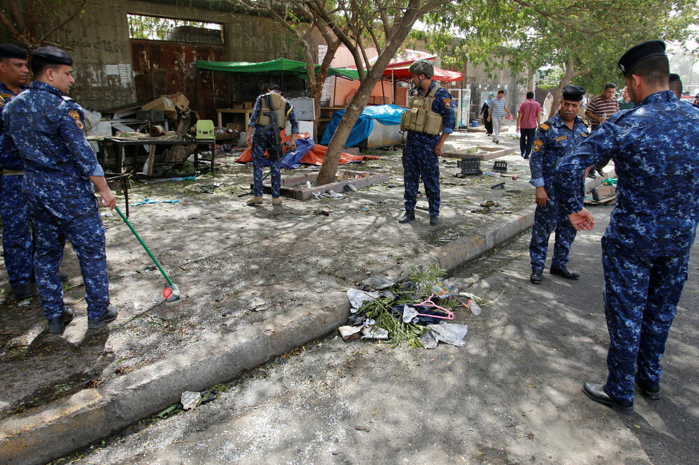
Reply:
<svg viewBox="0 0 699 465"><path fill-rule="evenodd" d="M34 272L36 290L46 318L60 316L64 310L63 285L59 265L68 239L80 262L82 281L85 282L87 317L98 318L109 307L109 282L105 253L104 226L96 200L58 200L46 202L27 196L27 204L34 223L36 253Z"/></svg>

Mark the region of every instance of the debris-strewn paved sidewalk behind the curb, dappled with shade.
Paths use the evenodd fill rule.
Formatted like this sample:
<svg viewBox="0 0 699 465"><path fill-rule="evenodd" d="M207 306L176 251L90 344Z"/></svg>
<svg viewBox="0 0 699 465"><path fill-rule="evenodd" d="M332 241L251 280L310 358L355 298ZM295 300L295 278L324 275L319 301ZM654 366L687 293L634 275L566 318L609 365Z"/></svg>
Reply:
<svg viewBox="0 0 699 465"><path fill-rule="evenodd" d="M457 133L450 142L492 145L484 134ZM517 140L503 136L501 146ZM408 263L426 251L492 221L514 217L531 205L526 161L510 163L510 178L458 179L455 159L444 159L442 224L428 226L427 202L418 202L418 220L399 225L403 211L401 152L380 152L380 160L352 169L385 172L389 182L340 199L285 200L282 207L248 207L252 168L220 158L215 176L197 181L131 186L130 201L180 200L131 207L131 222L178 283L182 300L162 303L165 281L118 216L105 217L110 297L122 308L108 332L86 332L85 288L73 251L66 248L62 270L70 280L66 302L76 317L62 337L46 332L38 298L15 302L0 271L0 418L84 388L103 385L130 371L163 360L211 334L231 334L301 304L344 291L370 274ZM492 161L483 163L489 170ZM289 172L313 172L301 168ZM287 174L287 173L285 173ZM506 182L506 190L490 186ZM212 193L204 193L201 187ZM486 214L484 200L500 203ZM121 200L123 207L123 200ZM123 208L122 208L123 209ZM329 216L313 214L317 210ZM322 244L322 245L321 245ZM3 265L0 265L3 267ZM264 304L253 308L253 300Z"/></svg>

